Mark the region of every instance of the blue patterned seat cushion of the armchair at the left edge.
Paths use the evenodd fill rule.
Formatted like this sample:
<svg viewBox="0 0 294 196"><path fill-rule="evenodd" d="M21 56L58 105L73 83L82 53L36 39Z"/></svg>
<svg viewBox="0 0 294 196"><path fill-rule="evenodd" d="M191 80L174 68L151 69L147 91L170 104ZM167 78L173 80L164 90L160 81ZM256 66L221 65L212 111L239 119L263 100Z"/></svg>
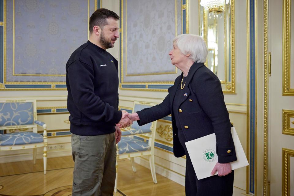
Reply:
<svg viewBox="0 0 294 196"><path fill-rule="evenodd" d="M43 142L43 136L33 132L17 132L0 135L0 145L24 145Z"/></svg>

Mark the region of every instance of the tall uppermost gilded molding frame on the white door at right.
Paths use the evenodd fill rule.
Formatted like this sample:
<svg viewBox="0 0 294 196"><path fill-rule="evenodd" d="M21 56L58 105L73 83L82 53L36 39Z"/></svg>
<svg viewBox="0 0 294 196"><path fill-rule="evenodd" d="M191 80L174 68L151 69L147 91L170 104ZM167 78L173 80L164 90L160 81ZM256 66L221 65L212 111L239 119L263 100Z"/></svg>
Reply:
<svg viewBox="0 0 294 196"><path fill-rule="evenodd" d="M291 88L291 0L283 1L283 96L294 96Z"/></svg>

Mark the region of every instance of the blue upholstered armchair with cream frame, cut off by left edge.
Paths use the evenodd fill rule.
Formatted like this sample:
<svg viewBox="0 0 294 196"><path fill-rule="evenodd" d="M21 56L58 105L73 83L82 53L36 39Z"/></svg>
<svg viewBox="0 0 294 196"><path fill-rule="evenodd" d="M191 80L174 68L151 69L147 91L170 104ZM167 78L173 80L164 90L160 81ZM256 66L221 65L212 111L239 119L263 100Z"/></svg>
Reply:
<svg viewBox="0 0 294 196"><path fill-rule="evenodd" d="M43 127L43 136L38 134L37 126ZM26 131L21 131L24 129ZM3 133L0 135L0 151L33 149L36 164L37 148L44 147L46 174L47 131L46 124L37 121L36 100L0 100L0 130Z"/></svg>

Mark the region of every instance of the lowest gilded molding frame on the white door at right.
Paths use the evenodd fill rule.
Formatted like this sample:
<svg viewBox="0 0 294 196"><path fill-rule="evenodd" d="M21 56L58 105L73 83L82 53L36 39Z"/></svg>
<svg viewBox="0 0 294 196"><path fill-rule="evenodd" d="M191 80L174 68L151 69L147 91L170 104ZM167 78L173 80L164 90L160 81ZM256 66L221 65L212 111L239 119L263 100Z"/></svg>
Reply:
<svg viewBox="0 0 294 196"><path fill-rule="evenodd" d="M283 148L282 156L282 196L288 196L290 195L290 156L294 157L294 150Z"/></svg>

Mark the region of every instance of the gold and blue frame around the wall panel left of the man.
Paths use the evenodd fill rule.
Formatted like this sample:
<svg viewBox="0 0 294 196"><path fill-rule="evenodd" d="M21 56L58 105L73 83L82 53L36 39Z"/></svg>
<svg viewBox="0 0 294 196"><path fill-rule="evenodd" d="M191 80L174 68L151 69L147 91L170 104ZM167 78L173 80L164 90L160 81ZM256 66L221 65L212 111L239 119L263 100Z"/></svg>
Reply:
<svg viewBox="0 0 294 196"><path fill-rule="evenodd" d="M66 90L66 82L61 81L7 81L6 70L7 70L7 58L12 58L12 70L13 76L35 76L35 77L46 77L46 76L59 76L65 77L64 74L52 75L52 74L15 74L15 60L16 55L14 40L15 40L15 0L13 1L13 24L9 24L7 21L7 0L1 0L0 8L0 34L3 35L3 40L0 40L0 57L3 57L0 61L0 91L5 90ZM98 7L101 7L101 0L87 0L87 16L88 16L88 29L89 29L89 17L90 11L95 11ZM3 5L3 6L2 6ZM7 26L12 25L13 28L13 56L7 57ZM89 32L88 32L89 38ZM65 65L64 65L65 66ZM10 69L10 67L9 67Z"/></svg>

